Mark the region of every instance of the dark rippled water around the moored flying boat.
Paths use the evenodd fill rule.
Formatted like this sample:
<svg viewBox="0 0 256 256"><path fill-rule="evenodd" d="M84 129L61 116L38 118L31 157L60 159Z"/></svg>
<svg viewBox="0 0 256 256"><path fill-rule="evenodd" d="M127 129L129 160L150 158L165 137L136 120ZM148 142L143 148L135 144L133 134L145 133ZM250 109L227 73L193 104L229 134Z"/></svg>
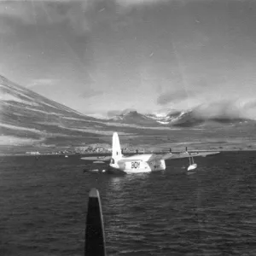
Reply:
<svg viewBox="0 0 256 256"><path fill-rule="evenodd" d="M84 173L73 155L0 159L0 255L83 255L90 188L108 255L256 255L256 152L168 160L165 172Z"/></svg>

